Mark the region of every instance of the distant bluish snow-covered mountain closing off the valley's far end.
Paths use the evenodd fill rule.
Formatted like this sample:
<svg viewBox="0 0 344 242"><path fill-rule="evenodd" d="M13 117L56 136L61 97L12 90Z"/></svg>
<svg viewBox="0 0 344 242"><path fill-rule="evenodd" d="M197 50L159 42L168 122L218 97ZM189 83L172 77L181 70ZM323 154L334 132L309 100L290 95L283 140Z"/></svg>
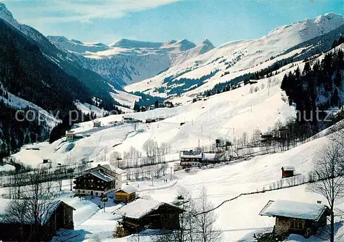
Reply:
<svg viewBox="0 0 344 242"><path fill-rule="evenodd" d="M63 36L47 36L57 47L80 56L80 63L107 78L113 85L129 85L151 78L214 48L208 41L199 45L182 39L166 43L120 39L103 43L82 43Z"/></svg>

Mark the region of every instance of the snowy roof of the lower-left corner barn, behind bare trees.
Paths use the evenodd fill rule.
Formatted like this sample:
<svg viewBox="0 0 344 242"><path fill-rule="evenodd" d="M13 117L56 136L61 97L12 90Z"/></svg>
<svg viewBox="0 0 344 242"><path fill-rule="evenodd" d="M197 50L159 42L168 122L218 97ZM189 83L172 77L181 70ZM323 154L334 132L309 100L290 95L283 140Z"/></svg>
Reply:
<svg viewBox="0 0 344 242"><path fill-rule="evenodd" d="M8 215L6 215L6 208L8 208L10 203L13 203L14 201L22 201L22 200L0 199L0 223L17 223L17 222L19 223L20 222L20 221L17 221L17 219L18 219L17 216L10 219L7 217ZM50 216L52 215L52 213L56 210L56 208L61 203L64 203L64 202L61 200L49 201L49 202L45 201L44 203L39 201L39 203L38 203L39 207L40 208L44 207L44 210L42 209L42 212L44 212L44 213L42 214L42 217L41 217L41 224L42 225L45 224L48 219L50 219ZM64 203L64 204L69 206L67 203ZM69 206L69 207L71 207L73 210L75 210L75 208L73 208L72 206ZM5 219L5 216L6 216L6 219ZM27 224L33 223L33 221L31 219L32 219L31 217L23 218L24 223L27 223Z"/></svg>

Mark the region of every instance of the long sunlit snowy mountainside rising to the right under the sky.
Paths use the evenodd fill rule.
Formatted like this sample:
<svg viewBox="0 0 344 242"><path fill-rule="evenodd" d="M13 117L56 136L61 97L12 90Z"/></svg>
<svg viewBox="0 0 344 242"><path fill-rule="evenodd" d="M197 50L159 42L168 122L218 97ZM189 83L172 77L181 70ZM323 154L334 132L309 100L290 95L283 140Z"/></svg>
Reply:
<svg viewBox="0 0 344 242"><path fill-rule="evenodd" d="M125 89L146 91L158 96L170 92L169 96L171 96L180 91L183 93L201 86L194 91L201 92L214 87L217 83L239 76L238 72L241 72L240 75L257 72L265 68L259 65L274 59L290 47L326 34L343 24L344 18L341 15L329 13L315 19L305 19L291 25L284 25L257 40L226 43L206 54L189 58L158 76L129 85ZM217 72L217 74L211 75L212 72ZM224 74L234 76L224 76ZM178 82L180 79L182 81ZM202 87L204 83L208 85ZM178 92L171 91L175 85L182 88L179 88Z"/></svg>

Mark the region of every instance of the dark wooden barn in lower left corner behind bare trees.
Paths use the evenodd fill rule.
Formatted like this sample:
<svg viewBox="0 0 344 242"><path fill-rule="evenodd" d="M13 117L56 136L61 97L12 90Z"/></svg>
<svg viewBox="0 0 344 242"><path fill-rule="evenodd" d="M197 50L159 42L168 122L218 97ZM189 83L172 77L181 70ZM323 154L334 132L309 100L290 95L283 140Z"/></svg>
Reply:
<svg viewBox="0 0 344 242"><path fill-rule="evenodd" d="M51 241L57 230L74 230L73 211L75 210L63 201L53 201L43 213L41 223L36 228L33 221L19 221L19 218L9 218L6 208L13 200L1 201L0 206L0 240L1 241ZM6 204L5 204L6 203ZM23 212L25 213L25 212ZM27 217L23 214L22 217ZM39 231L34 233L34 231Z"/></svg>

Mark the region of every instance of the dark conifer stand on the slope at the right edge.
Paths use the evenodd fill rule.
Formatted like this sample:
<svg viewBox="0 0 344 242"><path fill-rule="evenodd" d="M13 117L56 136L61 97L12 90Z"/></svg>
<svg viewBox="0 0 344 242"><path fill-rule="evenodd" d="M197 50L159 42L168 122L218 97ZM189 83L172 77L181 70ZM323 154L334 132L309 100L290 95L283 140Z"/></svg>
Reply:
<svg viewBox="0 0 344 242"><path fill-rule="evenodd" d="M343 51L338 50L314 61L312 67L306 62L302 72L298 67L283 77L281 89L286 91L289 104L295 104L299 122L309 123L315 132L324 128L324 110L343 103L343 70Z"/></svg>

